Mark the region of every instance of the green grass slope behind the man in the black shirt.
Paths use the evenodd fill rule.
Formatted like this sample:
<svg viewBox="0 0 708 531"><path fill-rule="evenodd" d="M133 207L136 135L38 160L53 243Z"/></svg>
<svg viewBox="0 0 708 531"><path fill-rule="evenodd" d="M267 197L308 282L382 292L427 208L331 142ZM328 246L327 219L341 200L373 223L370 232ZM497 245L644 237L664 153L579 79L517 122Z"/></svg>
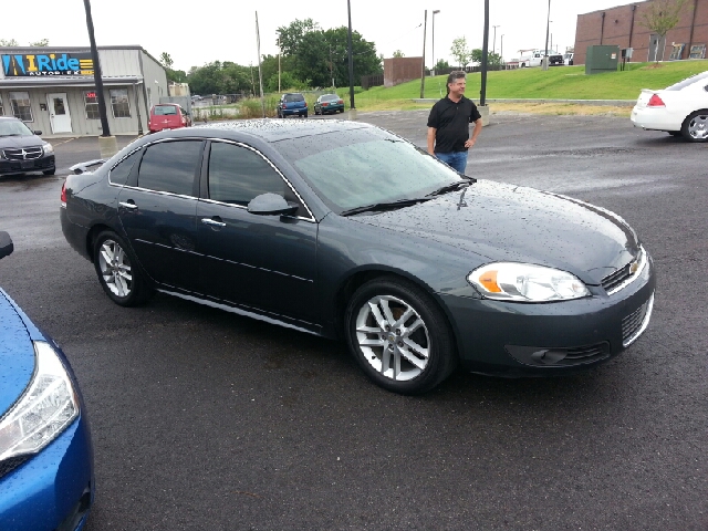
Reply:
<svg viewBox="0 0 708 531"><path fill-rule="evenodd" d="M487 74L487 97L550 98L550 100L636 100L642 88L664 88L690 75L708 70L708 60L676 61L669 63L629 63L624 72L585 75L585 66L555 66L518 69ZM425 97L445 95L445 75L426 77ZM468 97L478 101L481 74L467 76ZM420 80L402 83L389 88L375 86L356 96L356 106L363 111L367 104L381 106L391 100L420 97ZM393 102L392 102L393 103Z"/></svg>

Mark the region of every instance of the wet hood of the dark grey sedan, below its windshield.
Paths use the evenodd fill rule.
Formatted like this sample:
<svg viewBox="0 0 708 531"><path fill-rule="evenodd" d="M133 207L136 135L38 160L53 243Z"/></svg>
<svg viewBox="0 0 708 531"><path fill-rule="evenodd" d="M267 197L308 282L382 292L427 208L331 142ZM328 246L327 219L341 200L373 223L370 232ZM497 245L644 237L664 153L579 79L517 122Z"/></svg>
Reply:
<svg viewBox="0 0 708 531"><path fill-rule="evenodd" d="M622 218L577 199L482 180L465 191L460 204L461 196L456 191L351 219L477 254L482 263L535 263L589 284L598 284L638 253L636 233Z"/></svg>

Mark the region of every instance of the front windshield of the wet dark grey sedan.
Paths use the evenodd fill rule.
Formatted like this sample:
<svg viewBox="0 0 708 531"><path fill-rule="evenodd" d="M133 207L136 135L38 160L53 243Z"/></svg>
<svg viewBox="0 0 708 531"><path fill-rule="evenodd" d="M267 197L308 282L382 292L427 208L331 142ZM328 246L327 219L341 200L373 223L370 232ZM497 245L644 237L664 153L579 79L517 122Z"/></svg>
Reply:
<svg viewBox="0 0 708 531"><path fill-rule="evenodd" d="M423 198L465 180L409 142L373 127L293 138L277 146L336 214Z"/></svg>

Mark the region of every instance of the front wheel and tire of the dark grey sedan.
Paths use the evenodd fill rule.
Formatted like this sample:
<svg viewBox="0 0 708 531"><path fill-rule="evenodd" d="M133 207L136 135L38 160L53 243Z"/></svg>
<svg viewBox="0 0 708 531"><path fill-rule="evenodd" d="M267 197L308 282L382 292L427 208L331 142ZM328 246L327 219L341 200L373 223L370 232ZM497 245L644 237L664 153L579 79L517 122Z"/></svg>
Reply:
<svg viewBox="0 0 708 531"><path fill-rule="evenodd" d="M381 387L403 395L430 391L457 364L450 326L435 301L394 277L372 280L345 313L350 352Z"/></svg>

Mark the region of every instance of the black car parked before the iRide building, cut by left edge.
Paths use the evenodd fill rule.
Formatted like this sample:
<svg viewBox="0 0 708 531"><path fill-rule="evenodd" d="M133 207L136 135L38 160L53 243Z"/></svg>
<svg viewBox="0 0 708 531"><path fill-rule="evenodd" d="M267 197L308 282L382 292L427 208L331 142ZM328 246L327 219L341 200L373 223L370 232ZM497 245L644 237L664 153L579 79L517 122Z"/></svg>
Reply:
<svg viewBox="0 0 708 531"><path fill-rule="evenodd" d="M0 116L0 175L42 171L54 175L54 148L13 116Z"/></svg>

